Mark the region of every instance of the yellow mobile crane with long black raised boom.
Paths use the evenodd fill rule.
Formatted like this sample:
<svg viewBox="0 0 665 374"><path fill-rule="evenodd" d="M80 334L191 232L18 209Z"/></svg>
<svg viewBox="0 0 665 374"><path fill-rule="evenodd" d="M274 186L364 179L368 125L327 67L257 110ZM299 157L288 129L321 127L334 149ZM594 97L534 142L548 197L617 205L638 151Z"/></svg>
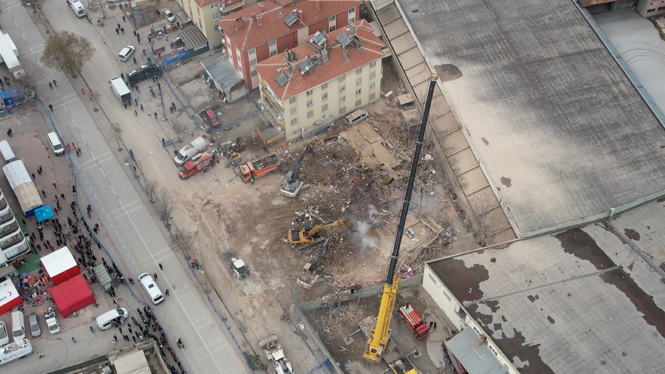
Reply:
<svg viewBox="0 0 665 374"><path fill-rule="evenodd" d="M376 316L376 325L367 339L367 346L362 355L366 361L371 363L379 363L381 355L388 344L390 338L390 320L392 320L392 310L395 307L395 298L397 296L397 286L400 283L400 274L395 274L395 267L397 266L397 256L400 254L400 244L402 243L402 233L404 232L404 223L409 211L409 203L411 202L411 193L414 188L414 181L416 179L416 171L418 170L418 161L420 161L420 150L422 149L422 141L425 137L425 128L427 127L427 119L430 116L430 106L432 105L432 96L434 96L434 86L436 80L439 78L437 74L430 76L430 87L427 92L425 100L425 108L420 122L420 132L418 133L418 141L416 141L416 151L414 152L413 162L411 163L411 173L409 175L408 185L406 186L406 195L404 196L404 203L402 204L402 212L400 213L400 221L397 225L397 233L395 234L395 242L392 247L392 254L390 255L390 265L388 266L388 274L386 275L386 282L383 285L383 293L381 296L381 304L378 308L378 316ZM391 369L394 368L391 367ZM406 372L408 374L415 374L416 369L411 367Z"/></svg>

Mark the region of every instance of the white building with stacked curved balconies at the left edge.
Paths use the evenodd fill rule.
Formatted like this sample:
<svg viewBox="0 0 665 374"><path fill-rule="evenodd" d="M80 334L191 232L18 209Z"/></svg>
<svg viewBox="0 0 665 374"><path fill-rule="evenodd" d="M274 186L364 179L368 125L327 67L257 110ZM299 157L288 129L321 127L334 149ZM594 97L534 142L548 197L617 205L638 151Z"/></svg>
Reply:
<svg viewBox="0 0 665 374"><path fill-rule="evenodd" d="M0 191L0 266L15 262L30 254L30 243L21 231L19 222Z"/></svg>

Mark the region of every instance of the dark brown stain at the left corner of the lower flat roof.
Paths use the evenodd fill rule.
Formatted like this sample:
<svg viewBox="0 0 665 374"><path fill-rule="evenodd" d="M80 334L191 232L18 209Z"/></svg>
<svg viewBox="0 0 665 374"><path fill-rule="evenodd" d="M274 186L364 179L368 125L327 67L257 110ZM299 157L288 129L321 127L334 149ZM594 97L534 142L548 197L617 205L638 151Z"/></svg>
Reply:
<svg viewBox="0 0 665 374"><path fill-rule="evenodd" d="M432 264L432 270L439 274L460 302L473 302L483 298L480 284L489 279L485 266L473 264L469 268L463 260L452 258Z"/></svg>

